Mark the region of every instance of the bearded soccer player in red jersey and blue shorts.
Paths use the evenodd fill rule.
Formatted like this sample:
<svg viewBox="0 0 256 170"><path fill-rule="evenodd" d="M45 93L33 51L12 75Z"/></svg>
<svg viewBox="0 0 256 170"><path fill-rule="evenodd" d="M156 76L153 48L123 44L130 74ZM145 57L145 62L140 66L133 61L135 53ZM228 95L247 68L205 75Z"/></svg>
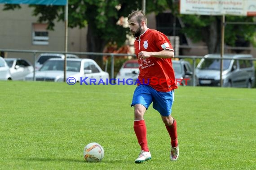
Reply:
<svg viewBox="0 0 256 170"><path fill-rule="evenodd" d="M135 37L134 48L140 69L131 104L134 106L133 128L141 146L141 153L135 163L151 159L143 116L152 102L171 138L170 159L176 161L179 156L177 123L171 116L174 89L177 89L172 68L174 50L163 33L147 27L147 18L142 10L130 13L128 24Z"/></svg>

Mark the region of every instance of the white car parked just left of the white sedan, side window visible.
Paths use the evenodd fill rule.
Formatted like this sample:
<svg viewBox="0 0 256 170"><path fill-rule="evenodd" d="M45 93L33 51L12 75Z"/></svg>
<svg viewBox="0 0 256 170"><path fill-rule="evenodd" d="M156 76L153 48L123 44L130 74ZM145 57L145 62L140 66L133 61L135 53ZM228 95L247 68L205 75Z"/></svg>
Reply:
<svg viewBox="0 0 256 170"><path fill-rule="evenodd" d="M25 76L34 71L34 67L26 59L5 58L13 80L25 80Z"/></svg>

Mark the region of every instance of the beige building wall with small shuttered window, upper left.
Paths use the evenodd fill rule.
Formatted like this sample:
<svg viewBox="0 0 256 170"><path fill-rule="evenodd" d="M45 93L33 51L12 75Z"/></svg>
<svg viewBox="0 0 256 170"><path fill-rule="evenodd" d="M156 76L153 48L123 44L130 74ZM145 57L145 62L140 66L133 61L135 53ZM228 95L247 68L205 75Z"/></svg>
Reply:
<svg viewBox="0 0 256 170"><path fill-rule="evenodd" d="M46 23L39 23L32 16L33 8L3 11L0 4L0 49L65 51L65 24L55 21L54 30L47 30ZM68 28L67 51L86 52L87 28ZM33 54L1 51L6 58L23 58L33 62Z"/></svg>

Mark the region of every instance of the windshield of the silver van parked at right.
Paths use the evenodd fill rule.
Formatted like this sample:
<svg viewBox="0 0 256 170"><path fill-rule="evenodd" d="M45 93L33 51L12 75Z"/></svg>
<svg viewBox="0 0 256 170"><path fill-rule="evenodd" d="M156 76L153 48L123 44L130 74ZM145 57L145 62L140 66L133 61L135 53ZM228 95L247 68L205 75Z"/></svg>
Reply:
<svg viewBox="0 0 256 170"><path fill-rule="evenodd" d="M223 69L226 70L230 66L231 59L223 59ZM199 66L201 70L220 70L221 59L204 59L202 64Z"/></svg>

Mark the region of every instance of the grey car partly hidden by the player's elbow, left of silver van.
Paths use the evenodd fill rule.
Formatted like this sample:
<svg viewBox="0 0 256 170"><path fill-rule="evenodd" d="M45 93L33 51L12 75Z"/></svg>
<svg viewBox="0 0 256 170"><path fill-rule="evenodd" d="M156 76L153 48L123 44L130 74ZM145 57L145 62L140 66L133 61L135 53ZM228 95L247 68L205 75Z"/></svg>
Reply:
<svg viewBox="0 0 256 170"><path fill-rule="evenodd" d="M183 59L172 60L177 85L193 85L193 68L188 61ZM197 85L197 78L195 78Z"/></svg>

